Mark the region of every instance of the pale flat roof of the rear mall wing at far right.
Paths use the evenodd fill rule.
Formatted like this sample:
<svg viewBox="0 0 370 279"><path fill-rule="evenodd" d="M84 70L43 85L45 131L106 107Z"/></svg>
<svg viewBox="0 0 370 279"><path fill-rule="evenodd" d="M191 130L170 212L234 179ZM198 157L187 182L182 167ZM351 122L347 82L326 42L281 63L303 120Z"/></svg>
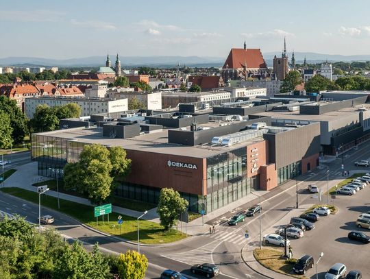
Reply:
<svg viewBox="0 0 370 279"><path fill-rule="evenodd" d="M299 104L297 104L299 106ZM260 115L260 116L267 116L271 117L273 119L297 119L297 120L308 120L308 121L332 121L341 119L344 117L348 117L349 115L358 114L359 108L369 107L370 104L367 106L367 104L362 104L354 107L348 107L348 108L342 108L341 110L334 110L332 112L326 112L323 114L299 114L299 110L297 111L267 111L267 112L259 112L254 115Z"/></svg>

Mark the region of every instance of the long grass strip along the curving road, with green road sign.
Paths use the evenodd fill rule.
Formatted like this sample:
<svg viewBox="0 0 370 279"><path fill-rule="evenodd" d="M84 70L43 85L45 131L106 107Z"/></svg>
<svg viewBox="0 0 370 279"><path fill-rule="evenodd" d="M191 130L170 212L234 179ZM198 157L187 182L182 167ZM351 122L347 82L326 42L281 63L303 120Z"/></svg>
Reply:
<svg viewBox="0 0 370 279"><path fill-rule="evenodd" d="M38 204L38 194L36 192L27 191L20 188L3 188L1 191L20 197L21 199L26 199L29 202L34 202ZM56 197L51 197L48 195L41 195L41 205L52 208L53 210L58 210L58 202ZM66 215L69 215L87 226L96 228L101 232L107 232L109 234L114 234L121 236L123 239L130 241L137 241L138 231L137 231L137 219L134 217L121 215L123 223L121 225L121 234L119 231L119 226L117 223L117 217L120 214L111 213L109 215L109 223L107 220L107 215L104 216L104 223L102 217L99 217L99 225L97 225L97 219L94 217L94 207L86 206L84 204L77 204L75 202L70 202L65 199L60 199L60 210L58 210ZM158 223L153 223L151 221L139 220L140 228L140 242L145 244L161 244L170 243L173 241L179 241L186 237L182 232L177 232L176 230L170 230L165 232L163 227Z"/></svg>

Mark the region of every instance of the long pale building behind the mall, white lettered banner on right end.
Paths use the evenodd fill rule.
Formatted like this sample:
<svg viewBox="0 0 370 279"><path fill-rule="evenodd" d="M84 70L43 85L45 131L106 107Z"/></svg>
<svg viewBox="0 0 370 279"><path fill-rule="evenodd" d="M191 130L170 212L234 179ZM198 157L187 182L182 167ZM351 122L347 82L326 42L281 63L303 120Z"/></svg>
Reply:
<svg viewBox="0 0 370 279"><path fill-rule="evenodd" d="M25 98L25 114L29 119L34 117L36 107L46 104L47 106L62 106L75 103L81 107L82 117L91 114L121 112L128 110L127 99L86 98L86 97L30 97Z"/></svg>

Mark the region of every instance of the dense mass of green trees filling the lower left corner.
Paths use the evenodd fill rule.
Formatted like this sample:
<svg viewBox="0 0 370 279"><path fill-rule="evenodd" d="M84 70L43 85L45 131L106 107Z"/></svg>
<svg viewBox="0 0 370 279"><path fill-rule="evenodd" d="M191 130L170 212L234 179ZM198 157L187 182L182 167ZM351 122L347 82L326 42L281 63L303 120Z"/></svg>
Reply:
<svg viewBox="0 0 370 279"><path fill-rule="evenodd" d="M148 260L144 254L105 255L96 244L87 252L82 243L69 244L58 232L43 230L16 216L0 221L0 278L141 279Z"/></svg>

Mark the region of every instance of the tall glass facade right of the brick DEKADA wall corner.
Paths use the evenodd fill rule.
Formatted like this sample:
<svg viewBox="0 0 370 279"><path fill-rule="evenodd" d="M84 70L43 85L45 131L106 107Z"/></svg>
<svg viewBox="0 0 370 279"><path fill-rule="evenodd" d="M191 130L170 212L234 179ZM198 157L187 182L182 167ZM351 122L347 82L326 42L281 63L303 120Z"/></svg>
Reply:
<svg viewBox="0 0 370 279"><path fill-rule="evenodd" d="M259 189L259 175L247 178L247 148L207 158L206 212L211 212Z"/></svg>

